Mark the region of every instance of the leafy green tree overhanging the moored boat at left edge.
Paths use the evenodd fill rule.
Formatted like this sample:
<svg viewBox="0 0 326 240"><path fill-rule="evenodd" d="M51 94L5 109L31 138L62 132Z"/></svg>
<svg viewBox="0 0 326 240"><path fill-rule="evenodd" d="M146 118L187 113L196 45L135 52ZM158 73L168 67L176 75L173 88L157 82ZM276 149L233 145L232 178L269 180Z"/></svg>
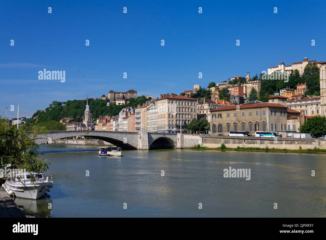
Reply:
<svg viewBox="0 0 326 240"><path fill-rule="evenodd" d="M35 142L40 136L44 137L47 131L39 126L34 126L32 130L32 134L28 134L26 125L21 125L17 129L0 118L0 158L2 158L0 168L11 164L11 168L26 169L26 172L46 172L49 169L48 164L38 158L41 153ZM31 178L33 180L34 176Z"/></svg>

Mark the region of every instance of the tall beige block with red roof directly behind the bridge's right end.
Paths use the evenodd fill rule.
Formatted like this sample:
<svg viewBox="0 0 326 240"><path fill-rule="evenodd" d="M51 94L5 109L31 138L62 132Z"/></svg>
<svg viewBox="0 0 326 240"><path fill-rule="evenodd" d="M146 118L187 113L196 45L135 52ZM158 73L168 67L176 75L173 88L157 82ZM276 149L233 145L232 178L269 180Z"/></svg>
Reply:
<svg viewBox="0 0 326 240"><path fill-rule="evenodd" d="M182 129L193 118L197 118L197 99L190 98L189 94L168 96L163 95L157 100L157 132L180 132L180 120Z"/></svg>

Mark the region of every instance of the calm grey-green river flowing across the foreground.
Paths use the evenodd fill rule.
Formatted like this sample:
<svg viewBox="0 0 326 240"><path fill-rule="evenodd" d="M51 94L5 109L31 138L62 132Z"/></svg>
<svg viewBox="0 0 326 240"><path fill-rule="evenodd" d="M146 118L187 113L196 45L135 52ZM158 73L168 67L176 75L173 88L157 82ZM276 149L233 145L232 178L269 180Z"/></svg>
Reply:
<svg viewBox="0 0 326 240"><path fill-rule="evenodd" d="M323 154L166 149L106 157L94 146L64 144L40 151L54 186L40 200L14 199L26 216L326 216ZM224 178L229 167L250 168L250 180Z"/></svg>

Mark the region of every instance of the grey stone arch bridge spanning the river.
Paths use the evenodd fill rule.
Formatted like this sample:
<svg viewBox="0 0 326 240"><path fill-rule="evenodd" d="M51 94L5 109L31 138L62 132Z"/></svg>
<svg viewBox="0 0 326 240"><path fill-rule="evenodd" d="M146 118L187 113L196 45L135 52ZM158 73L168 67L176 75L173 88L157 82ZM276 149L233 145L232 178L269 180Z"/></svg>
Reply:
<svg viewBox="0 0 326 240"><path fill-rule="evenodd" d="M184 135L184 134L182 134ZM47 135L37 136L36 143L42 144L49 141L55 142L56 139L84 136L110 142L122 149L164 149L164 148L182 148L182 139L180 134L163 134L148 132L111 132L111 131L49 131ZM197 137L198 138L198 137Z"/></svg>

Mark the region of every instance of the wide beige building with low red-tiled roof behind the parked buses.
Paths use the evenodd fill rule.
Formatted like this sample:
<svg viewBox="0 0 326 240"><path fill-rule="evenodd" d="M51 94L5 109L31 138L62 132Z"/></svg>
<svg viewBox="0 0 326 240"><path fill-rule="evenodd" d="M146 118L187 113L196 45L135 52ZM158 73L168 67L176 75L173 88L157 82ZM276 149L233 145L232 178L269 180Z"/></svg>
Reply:
<svg viewBox="0 0 326 240"><path fill-rule="evenodd" d="M246 103L240 106L226 106L211 110L212 133L227 135L230 131L246 131L251 135L255 131L286 132L287 118L297 115L297 111L288 112L287 102L280 96L269 98L268 103Z"/></svg>

